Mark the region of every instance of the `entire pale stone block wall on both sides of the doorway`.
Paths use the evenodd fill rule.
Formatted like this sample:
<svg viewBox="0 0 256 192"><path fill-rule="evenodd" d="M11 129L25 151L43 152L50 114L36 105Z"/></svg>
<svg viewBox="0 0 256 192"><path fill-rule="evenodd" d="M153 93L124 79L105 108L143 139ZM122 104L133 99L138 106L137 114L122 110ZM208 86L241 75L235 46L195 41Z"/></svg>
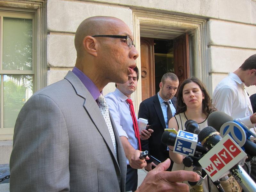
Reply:
<svg viewBox="0 0 256 192"><path fill-rule="evenodd" d="M217 83L256 53L255 0L97 0L47 1L47 85L62 79L76 61L74 35L85 18L104 15L123 20L133 29L133 10L170 13L205 19L207 88ZM204 43L204 42L201 42ZM104 94L115 89L104 88ZM247 88L252 94L255 87Z"/></svg>

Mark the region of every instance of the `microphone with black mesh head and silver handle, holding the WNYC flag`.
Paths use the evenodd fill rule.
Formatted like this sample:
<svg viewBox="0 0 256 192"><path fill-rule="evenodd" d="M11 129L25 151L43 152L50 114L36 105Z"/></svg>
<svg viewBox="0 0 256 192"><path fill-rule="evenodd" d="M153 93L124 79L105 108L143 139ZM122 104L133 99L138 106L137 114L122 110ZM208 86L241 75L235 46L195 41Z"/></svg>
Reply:
<svg viewBox="0 0 256 192"><path fill-rule="evenodd" d="M205 127L198 133L198 140L208 150L213 148L221 139L220 133L211 126ZM239 164L236 164L229 171L245 192L256 191L255 182Z"/></svg>

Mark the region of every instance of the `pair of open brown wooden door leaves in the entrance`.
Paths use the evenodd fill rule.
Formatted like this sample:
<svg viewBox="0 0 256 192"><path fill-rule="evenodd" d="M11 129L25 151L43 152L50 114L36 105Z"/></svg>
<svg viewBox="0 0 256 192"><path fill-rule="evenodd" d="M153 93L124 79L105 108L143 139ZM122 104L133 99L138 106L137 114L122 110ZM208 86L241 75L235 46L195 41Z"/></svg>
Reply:
<svg viewBox="0 0 256 192"><path fill-rule="evenodd" d="M161 77L166 72L175 73L180 83L189 77L189 50L188 50L188 33L173 39L173 69L167 70L162 68L159 71L158 63L155 63L154 50L157 40L154 38L140 38L140 58L141 58L141 91L142 100L145 100L159 90ZM168 62L168 61L167 61ZM171 62L171 61L169 61Z"/></svg>

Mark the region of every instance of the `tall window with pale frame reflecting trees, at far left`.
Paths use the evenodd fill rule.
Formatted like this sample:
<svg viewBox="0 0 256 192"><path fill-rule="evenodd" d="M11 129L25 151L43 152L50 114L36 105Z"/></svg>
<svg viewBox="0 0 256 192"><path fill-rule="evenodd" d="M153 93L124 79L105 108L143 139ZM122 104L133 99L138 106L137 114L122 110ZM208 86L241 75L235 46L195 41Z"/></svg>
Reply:
<svg viewBox="0 0 256 192"><path fill-rule="evenodd" d="M0 12L0 134L35 90L35 14Z"/></svg>

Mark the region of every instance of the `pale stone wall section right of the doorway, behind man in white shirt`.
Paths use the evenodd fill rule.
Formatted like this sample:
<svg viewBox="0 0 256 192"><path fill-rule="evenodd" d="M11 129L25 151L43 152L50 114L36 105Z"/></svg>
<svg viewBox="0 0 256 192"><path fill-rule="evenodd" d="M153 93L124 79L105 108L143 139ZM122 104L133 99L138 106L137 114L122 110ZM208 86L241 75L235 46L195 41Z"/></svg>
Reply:
<svg viewBox="0 0 256 192"><path fill-rule="evenodd" d="M241 66L245 59L256 53L256 25L210 19L207 26L207 65L212 90ZM246 88L251 95L255 86Z"/></svg>

